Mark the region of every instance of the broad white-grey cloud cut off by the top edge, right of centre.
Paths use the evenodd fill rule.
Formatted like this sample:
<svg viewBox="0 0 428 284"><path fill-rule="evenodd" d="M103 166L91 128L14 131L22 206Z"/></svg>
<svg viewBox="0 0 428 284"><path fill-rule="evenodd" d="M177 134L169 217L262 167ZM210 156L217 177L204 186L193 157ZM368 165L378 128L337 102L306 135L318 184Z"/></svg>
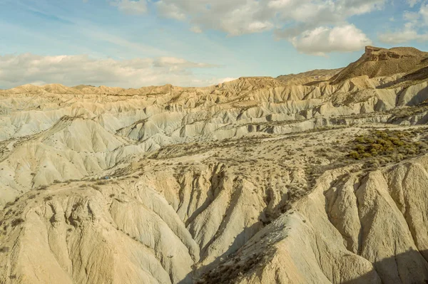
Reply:
<svg viewBox="0 0 428 284"><path fill-rule="evenodd" d="M351 16L382 9L386 2L387 0L160 0L153 1L153 6L159 16L186 22L195 33L213 29L223 31L228 36L240 36L275 30L277 38L293 41L295 37L302 37L303 32L318 27L349 26L347 19ZM337 48L335 51L348 49ZM326 50L324 53L327 52L331 51Z"/></svg>

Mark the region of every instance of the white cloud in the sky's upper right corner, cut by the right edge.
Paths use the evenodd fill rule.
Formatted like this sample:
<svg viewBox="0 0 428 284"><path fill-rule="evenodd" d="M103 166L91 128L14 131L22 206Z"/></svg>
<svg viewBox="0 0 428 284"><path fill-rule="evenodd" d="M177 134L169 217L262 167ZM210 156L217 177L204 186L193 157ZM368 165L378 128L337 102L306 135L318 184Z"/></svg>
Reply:
<svg viewBox="0 0 428 284"><path fill-rule="evenodd" d="M418 1L408 1L414 6ZM410 3L412 2L412 3ZM404 11L403 19L406 21L402 28L396 31L379 34L382 43L406 43L409 41L428 41L428 4L422 4L417 12ZM419 32L423 31L422 33Z"/></svg>

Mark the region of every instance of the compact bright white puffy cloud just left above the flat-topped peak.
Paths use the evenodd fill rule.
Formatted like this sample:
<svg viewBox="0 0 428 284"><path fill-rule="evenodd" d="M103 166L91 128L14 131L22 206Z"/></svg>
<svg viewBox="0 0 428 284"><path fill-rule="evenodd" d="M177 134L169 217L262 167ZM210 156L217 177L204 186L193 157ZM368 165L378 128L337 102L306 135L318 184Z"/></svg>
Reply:
<svg viewBox="0 0 428 284"><path fill-rule="evenodd" d="M372 41L354 25L319 27L292 38L297 51L317 56L335 51L359 51L371 44Z"/></svg>

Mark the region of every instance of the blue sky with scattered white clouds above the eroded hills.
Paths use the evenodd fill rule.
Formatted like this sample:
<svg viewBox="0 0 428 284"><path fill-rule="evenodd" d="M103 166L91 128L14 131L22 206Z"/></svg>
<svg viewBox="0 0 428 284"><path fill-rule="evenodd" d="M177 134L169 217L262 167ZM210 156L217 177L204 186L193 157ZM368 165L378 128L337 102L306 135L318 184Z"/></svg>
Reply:
<svg viewBox="0 0 428 284"><path fill-rule="evenodd" d="M428 51L428 0L0 0L0 88L203 86Z"/></svg>

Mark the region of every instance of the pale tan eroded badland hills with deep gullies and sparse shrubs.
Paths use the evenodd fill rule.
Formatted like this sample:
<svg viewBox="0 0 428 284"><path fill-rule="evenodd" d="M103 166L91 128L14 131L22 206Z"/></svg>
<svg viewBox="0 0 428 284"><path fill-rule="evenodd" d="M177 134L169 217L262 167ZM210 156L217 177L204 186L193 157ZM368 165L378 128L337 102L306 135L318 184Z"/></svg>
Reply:
<svg viewBox="0 0 428 284"><path fill-rule="evenodd" d="M1 90L0 282L423 283L427 58Z"/></svg>

